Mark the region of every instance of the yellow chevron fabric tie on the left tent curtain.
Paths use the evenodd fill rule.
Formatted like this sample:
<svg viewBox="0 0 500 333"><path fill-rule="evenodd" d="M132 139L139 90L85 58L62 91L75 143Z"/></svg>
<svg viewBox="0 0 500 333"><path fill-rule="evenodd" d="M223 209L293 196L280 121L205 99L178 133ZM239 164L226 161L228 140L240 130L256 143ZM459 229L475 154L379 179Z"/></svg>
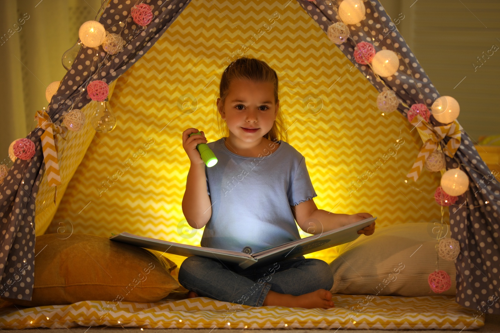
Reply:
<svg viewBox="0 0 500 333"><path fill-rule="evenodd" d="M59 134L61 138L64 139L67 134L67 128L54 124L45 110L36 111L35 119L38 121L37 127L44 130L40 139L48 185L60 185L61 179L59 175L59 165L57 164L57 136L54 136L54 134Z"/></svg>

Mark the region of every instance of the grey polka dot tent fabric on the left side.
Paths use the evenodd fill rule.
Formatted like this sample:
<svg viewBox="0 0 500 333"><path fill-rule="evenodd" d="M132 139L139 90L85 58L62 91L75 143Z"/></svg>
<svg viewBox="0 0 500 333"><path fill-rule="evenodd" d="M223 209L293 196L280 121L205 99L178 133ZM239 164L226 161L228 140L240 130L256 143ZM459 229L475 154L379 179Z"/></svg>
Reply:
<svg viewBox="0 0 500 333"><path fill-rule="evenodd" d="M83 46L71 69L62 78L53 95L47 113L53 123L69 110L90 102L85 87L92 80L110 84L139 59L185 8L184 0L147 2L153 19L146 27L137 27L130 16L130 8L137 1L104 1L99 22L109 33L120 33L127 45L116 55L108 55L102 46ZM189 1L187 1L189 2ZM127 22L123 28L119 22ZM35 154L30 160L17 159L0 185L0 219L2 241L0 249L0 293L5 299L31 300L34 265L34 207L38 184L44 172L40 135L35 128L27 138L35 144Z"/></svg>

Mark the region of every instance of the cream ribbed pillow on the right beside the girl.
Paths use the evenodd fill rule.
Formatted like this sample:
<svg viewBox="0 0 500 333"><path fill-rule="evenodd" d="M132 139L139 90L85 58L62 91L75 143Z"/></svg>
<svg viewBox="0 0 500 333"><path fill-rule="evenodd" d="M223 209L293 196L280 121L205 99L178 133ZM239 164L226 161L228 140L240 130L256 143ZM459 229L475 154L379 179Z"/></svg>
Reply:
<svg viewBox="0 0 500 333"><path fill-rule="evenodd" d="M417 297L456 294L454 261L439 257L439 270L451 278L451 287L434 293L427 282L436 269L437 237L430 222L376 228L373 235L337 247L339 256L329 265L336 294ZM446 225L444 231L446 231ZM450 237L447 231L445 238Z"/></svg>

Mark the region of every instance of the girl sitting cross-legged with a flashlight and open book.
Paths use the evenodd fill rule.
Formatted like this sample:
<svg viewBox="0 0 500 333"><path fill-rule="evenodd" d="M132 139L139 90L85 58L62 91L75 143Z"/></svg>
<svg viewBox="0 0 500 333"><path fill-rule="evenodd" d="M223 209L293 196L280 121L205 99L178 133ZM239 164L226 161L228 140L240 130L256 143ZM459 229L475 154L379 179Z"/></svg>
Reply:
<svg viewBox="0 0 500 333"><path fill-rule="evenodd" d="M315 234L372 217L358 213L325 218L323 213L328 212L316 208L312 198L317 195L305 159L287 143L276 72L264 61L244 56L231 62L222 73L219 93L219 127L224 127L227 136L207 143L202 131L189 137L198 132L195 128L182 133L182 146L191 163L182 212L191 227L205 226L202 247L258 252L300 239L295 220L303 231ZM205 167L196 150L199 143L207 143L217 156L213 167ZM333 216L337 224L323 228ZM373 230L374 222L358 233L371 235ZM334 306L329 265L304 256L244 270L191 256L182 262L178 281L190 291L188 297L253 307Z"/></svg>

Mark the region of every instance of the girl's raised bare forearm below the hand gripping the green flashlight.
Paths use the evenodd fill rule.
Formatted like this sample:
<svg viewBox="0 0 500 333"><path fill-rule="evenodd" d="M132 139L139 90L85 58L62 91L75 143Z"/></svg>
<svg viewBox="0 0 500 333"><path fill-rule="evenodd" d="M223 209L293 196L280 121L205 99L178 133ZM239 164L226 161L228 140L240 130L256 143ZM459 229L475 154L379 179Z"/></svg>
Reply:
<svg viewBox="0 0 500 333"><path fill-rule="evenodd" d="M191 163L187 173L186 190L182 198L182 213L187 223L195 229L203 228L212 216L205 177L205 164Z"/></svg>

